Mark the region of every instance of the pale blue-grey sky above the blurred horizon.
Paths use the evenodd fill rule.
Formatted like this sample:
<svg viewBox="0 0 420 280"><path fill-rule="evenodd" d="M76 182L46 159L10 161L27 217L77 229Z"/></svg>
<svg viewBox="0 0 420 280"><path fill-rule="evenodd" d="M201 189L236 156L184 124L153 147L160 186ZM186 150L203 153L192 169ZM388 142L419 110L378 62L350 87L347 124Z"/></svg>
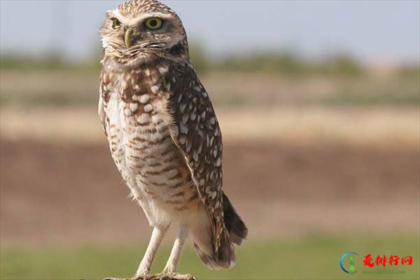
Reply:
<svg viewBox="0 0 420 280"><path fill-rule="evenodd" d="M1 52L69 59L99 46L104 13L123 1L1 0ZM347 51L360 61L419 63L420 1L164 1L211 55L291 48L309 58Z"/></svg>

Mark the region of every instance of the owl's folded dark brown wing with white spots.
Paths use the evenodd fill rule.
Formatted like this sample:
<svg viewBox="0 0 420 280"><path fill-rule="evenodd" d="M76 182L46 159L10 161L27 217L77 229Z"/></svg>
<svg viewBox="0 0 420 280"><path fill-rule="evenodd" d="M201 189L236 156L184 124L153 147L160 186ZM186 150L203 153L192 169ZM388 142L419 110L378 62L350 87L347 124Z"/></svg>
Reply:
<svg viewBox="0 0 420 280"><path fill-rule="evenodd" d="M192 69L177 76L169 97L172 138L181 149L194 185L213 225L214 246L221 246L224 228L222 135L209 95Z"/></svg>

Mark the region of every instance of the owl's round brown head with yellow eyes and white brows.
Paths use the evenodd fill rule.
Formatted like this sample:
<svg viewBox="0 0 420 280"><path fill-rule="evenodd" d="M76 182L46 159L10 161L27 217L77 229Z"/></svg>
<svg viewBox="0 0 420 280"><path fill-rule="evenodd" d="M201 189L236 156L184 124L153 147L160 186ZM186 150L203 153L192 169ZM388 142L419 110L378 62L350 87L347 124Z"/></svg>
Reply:
<svg viewBox="0 0 420 280"><path fill-rule="evenodd" d="M104 60L111 59L120 66L135 66L158 57L188 57L181 19L156 0L127 1L109 10L101 36Z"/></svg>

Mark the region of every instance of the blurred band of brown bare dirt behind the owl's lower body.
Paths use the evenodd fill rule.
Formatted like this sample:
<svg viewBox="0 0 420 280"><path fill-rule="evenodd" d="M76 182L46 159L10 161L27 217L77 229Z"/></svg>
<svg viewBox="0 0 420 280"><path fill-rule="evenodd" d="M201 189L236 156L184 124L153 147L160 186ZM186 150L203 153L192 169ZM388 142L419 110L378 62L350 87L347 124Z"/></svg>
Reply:
<svg viewBox="0 0 420 280"><path fill-rule="evenodd" d="M419 148L227 142L224 186L250 239L418 232ZM1 141L1 242L148 239L102 144Z"/></svg>

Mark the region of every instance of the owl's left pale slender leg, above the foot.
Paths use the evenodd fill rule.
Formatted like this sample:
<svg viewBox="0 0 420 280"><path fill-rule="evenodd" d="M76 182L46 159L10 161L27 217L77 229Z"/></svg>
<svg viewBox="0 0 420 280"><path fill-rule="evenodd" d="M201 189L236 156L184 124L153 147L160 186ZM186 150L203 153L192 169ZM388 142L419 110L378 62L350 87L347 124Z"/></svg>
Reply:
<svg viewBox="0 0 420 280"><path fill-rule="evenodd" d="M169 227L158 228L155 226L152 231L151 241L144 253L144 257L140 262L139 268L137 269L136 276L145 276L148 275L151 271L151 266L153 259L155 258L156 253L158 253L158 248L162 243L162 239L165 236Z"/></svg>

